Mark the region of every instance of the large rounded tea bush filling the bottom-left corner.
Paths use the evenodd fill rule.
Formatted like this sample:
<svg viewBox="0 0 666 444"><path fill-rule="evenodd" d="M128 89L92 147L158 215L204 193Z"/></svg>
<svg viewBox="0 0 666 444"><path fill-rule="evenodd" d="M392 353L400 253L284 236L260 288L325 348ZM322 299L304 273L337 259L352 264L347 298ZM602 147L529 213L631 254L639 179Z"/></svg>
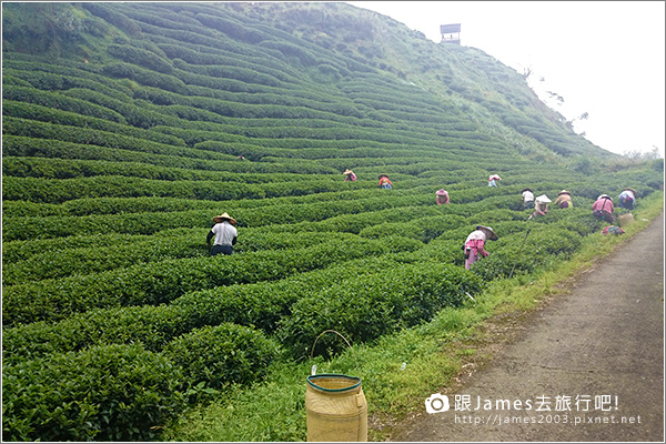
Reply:
<svg viewBox="0 0 666 444"><path fill-rule="evenodd" d="M148 441L185 406L181 369L140 345L2 367L3 441Z"/></svg>

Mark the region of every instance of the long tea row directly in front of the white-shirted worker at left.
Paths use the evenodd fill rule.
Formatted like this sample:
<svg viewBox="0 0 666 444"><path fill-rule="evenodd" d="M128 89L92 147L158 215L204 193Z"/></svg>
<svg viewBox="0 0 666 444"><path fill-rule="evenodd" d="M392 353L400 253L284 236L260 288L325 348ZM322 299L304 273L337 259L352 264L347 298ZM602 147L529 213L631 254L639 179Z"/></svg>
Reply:
<svg viewBox="0 0 666 444"><path fill-rule="evenodd" d="M394 248L395 245L391 245ZM414 244L405 245L414 249ZM3 325L61 320L94 307L157 305L194 290L283 279L340 261L387 252L381 241L332 241L310 249L164 260L4 289Z"/></svg>

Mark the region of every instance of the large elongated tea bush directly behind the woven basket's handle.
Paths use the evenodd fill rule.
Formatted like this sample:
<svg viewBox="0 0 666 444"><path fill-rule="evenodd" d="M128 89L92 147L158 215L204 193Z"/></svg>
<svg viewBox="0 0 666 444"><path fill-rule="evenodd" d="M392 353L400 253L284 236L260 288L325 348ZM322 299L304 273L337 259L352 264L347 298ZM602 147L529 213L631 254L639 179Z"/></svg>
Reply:
<svg viewBox="0 0 666 444"><path fill-rule="evenodd" d="M344 280L316 295L299 300L280 322L278 337L304 357L319 333L333 329L354 343L367 342L405 326L430 321L445 306L461 304L481 281L448 264L403 264L366 280ZM342 350L340 341L322 337L323 354ZM320 352L321 353L321 352Z"/></svg>

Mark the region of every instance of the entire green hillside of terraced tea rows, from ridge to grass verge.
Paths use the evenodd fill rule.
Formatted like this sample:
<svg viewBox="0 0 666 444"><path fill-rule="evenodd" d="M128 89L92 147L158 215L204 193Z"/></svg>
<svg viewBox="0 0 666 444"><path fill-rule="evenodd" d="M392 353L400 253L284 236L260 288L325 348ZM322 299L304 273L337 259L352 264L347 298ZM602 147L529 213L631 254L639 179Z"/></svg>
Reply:
<svg viewBox="0 0 666 444"><path fill-rule="evenodd" d="M3 441L159 438L326 329L372 342L566 260L598 194L663 183L484 52L345 3L6 2L2 26ZM574 208L527 221L525 186ZM465 270L477 224L500 240Z"/></svg>

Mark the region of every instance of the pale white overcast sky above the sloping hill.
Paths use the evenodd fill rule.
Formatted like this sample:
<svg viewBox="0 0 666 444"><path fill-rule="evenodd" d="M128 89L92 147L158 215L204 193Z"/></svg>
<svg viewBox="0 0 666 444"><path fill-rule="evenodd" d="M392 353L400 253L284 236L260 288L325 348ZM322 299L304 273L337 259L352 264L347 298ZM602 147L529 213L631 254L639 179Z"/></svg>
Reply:
<svg viewBox="0 0 666 444"><path fill-rule="evenodd" d="M608 151L665 148L664 1L350 1L434 42L461 23L461 44L523 73L577 132ZM541 79L544 79L541 81ZM561 103L561 104L557 104Z"/></svg>

